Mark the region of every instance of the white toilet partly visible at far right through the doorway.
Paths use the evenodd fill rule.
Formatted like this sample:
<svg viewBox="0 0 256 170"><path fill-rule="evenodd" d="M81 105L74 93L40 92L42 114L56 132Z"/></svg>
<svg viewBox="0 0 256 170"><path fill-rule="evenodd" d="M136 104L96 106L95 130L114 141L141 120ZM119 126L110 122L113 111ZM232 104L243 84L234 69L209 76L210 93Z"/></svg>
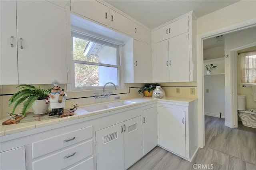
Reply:
<svg viewBox="0 0 256 170"><path fill-rule="evenodd" d="M246 127L256 128L256 109L245 109L246 95L237 95L237 110L242 123Z"/></svg>

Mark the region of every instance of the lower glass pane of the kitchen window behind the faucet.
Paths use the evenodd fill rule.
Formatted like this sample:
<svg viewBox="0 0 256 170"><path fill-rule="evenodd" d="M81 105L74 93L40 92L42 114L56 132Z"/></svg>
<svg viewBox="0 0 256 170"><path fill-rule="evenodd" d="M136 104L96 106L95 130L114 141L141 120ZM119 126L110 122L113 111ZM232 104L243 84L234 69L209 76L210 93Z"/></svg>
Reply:
<svg viewBox="0 0 256 170"><path fill-rule="evenodd" d="M75 87L118 85L118 68L75 63Z"/></svg>

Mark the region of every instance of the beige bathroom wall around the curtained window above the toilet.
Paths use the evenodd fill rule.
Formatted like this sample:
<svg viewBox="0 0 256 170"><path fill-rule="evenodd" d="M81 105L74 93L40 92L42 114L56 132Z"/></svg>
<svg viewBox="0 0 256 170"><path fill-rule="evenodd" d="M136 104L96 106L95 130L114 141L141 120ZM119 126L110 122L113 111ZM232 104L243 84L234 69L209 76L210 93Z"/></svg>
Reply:
<svg viewBox="0 0 256 170"><path fill-rule="evenodd" d="M246 48L246 49L242 49L237 51L237 93L238 94L242 94L242 95L246 95L246 99L245 99L245 103L246 103L246 109L252 109L252 108L256 108L256 101L253 101L253 95L252 95L252 87L240 87L240 58L238 55L239 52L245 52L245 51L256 51L256 46L250 47L250 48Z"/></svg>

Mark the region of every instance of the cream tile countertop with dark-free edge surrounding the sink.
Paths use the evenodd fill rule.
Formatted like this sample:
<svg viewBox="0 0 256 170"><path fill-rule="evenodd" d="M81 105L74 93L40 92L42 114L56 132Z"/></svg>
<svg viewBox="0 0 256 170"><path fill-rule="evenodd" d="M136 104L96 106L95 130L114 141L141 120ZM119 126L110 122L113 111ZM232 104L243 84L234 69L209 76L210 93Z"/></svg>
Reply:
<svg viewBox="0 0 256 170"><path fill-rule="evenodd" d="M75 114L73 116L69 117L63 117L63 118L56 118L56 119L49 119L49 120L44 120L44 121L34 121L34 122L28 122L28 123L18 123L14 125L2 125L2 123L9 118L1 119L0 120L0 136L8 135L8 134L13 134L16 132L22 132L25 130L31 130L34 128L40 128L40 127L45 127L48 125L54 125L57 123L63 123L66 121L71 121L74 119L80 119L84 117L90 117L93 115L99 115L102 113L110 112L110 111L115 111L119 109L124 109L127 107L132 107L136 105L141 105L144 103L150 103L152 101L166 101L166 102L174 102L174 103L182 103L182 104L188 104L194 100L197 100L197 98L186 98L186 97L164 97L162 99L152 99L152 97L140 97L140 98L133 98L133 99L126 99L126 100L118 100L118 101L128 101L132 102L129 105L123 105L123 106L118 106L118 107L113 107L113 108L108 108L108 109L102 109L99 111L92 111L92 112L87 112L81 109L82 107L86 106L93 106L93 105L101 105L101 104L106 104L106 103L112 103L116 101L110 101L110 102L104 102L104 103L95 103L92 105L82 105L79 106L78 109L75 111ZM104 115L102 115L104 116Z"/></svg>

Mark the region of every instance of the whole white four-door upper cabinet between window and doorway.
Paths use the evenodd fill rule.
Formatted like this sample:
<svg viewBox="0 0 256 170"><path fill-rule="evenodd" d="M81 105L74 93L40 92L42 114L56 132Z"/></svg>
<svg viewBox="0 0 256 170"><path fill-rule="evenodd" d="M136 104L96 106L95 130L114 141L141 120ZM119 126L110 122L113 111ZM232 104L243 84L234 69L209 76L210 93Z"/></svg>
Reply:
<svg viewBox="0 0 256 170"><path fill-rule="evenodd" d="M154 82L196 81L195 33L196 22L192 14L152 33Z"/></svg>

